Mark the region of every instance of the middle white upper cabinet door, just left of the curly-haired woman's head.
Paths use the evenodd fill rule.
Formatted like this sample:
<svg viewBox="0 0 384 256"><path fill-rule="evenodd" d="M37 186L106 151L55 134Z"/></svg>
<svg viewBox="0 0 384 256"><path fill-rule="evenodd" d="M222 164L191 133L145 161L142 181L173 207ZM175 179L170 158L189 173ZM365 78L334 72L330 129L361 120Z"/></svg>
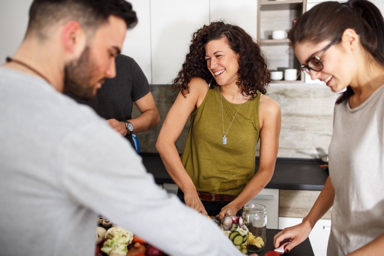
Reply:
<svg viewBox="0 0 384 256"><path fill-rule="evenodd" d="M209 23L207 0L151 0L152 83L170 84L181 69L192 34Z"/></svg>

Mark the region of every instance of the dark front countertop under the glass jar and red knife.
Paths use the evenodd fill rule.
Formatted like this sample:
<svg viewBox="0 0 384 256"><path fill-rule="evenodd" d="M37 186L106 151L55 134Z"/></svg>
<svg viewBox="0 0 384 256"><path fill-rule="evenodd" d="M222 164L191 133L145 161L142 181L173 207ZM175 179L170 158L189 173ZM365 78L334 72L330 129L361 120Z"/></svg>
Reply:
<svg viewBox="0 0 384 256"><path fill-rule="evenodd" d="M273 250L273 236L277 234L280 229L270 229L267 228L267 242L266 246L262 251L257 252L259 256L264 256L269 250ZM251 254L251 252L248 252ZM285 255L285 254L284 254ZM289 256L314 256L311 243L309 242L309 238L306 238L302 243L295 246L291 251L289 251Z"/></svg>

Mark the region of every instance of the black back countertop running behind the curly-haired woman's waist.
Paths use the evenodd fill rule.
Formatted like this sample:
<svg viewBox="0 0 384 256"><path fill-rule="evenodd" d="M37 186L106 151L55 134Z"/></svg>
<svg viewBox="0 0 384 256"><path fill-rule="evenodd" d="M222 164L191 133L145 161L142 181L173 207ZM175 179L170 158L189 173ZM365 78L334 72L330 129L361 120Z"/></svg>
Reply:
<svg viewBox="0 0 384 256"><path fill-rule="evenodd" d="M158 184L174 183L157 153L141 153L143 163ZM257 171L258 158L255 159ZM321 160L277 158L272 179L265 188L321 190L328 173L319 165Z"/></svg>

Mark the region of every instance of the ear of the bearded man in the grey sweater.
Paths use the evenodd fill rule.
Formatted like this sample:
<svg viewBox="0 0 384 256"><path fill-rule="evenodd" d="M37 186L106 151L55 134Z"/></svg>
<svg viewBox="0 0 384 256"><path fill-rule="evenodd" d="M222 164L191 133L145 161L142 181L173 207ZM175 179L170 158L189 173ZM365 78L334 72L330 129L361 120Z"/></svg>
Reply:
<svg viewBox="0 0 384 256"><path fill-rule="evenodd" d="M84 30L76 21L70 21L64 25L62 40L66 51L76 57L81 55L86 45Z"/></svg>

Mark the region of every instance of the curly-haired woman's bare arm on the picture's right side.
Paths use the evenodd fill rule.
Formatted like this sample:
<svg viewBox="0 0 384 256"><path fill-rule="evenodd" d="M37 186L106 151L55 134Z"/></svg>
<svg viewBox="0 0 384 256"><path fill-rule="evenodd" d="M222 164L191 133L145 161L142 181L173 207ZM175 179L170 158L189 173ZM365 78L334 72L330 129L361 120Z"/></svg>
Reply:
<svg viewBox="0 0 384 256"><path fill-rule="evenodd" d="M279 148L281 110L279 104L266 95L260 98L259 120L261 128L259 168L236 199L223 207L219 214L220 218L226 215L227 210L233 212L231 208L241 208L272 178Z"/></svg>

